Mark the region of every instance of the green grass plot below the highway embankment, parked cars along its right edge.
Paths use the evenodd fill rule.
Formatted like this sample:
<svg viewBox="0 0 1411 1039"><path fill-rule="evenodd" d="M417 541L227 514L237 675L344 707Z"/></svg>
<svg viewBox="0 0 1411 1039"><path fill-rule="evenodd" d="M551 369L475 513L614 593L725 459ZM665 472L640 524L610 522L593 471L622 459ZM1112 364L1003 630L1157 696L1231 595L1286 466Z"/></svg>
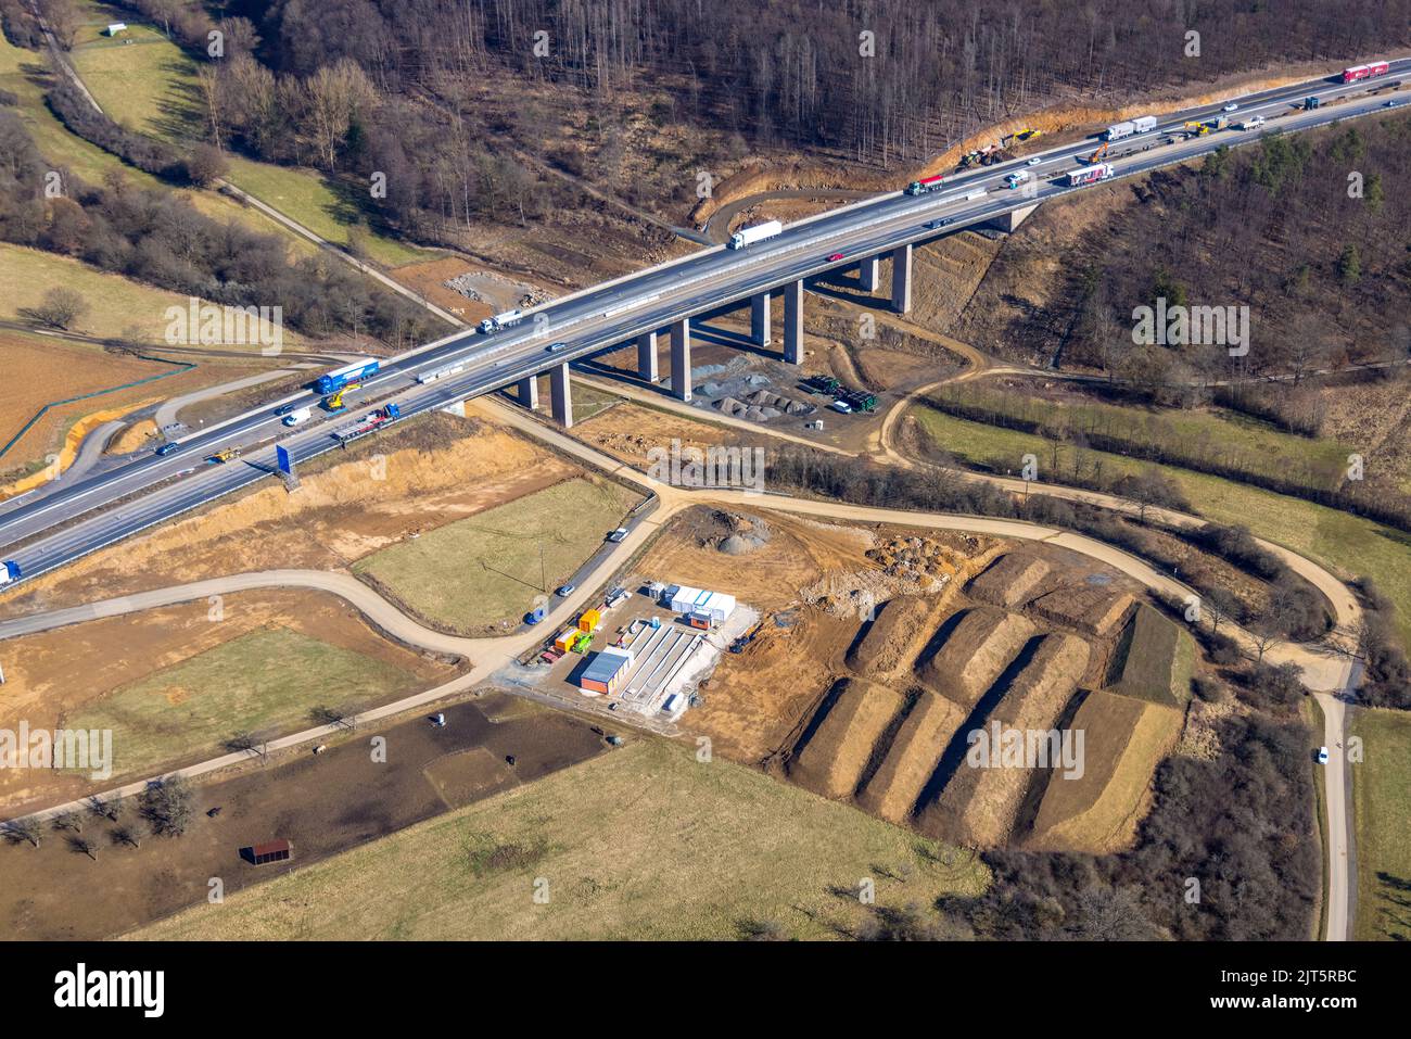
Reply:
<svg viewBox="0 0 1411 1039"><path fill-rule="evenodd" d="M566 480L374 552L353 570L433 624L483 631L518 623L535 596L567 580L635 503L610 480Z"/></svg>

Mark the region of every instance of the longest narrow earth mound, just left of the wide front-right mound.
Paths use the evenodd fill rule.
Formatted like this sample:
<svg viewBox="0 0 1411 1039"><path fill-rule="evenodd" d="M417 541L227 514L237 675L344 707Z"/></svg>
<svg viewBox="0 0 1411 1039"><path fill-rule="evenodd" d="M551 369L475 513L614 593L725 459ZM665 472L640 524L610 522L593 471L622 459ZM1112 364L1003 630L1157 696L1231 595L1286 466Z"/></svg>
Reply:
<svg viewBox="0 0 1411 1039"><path fill-rule="evenodd" d="M1038 649L1000 696L983 726L1030 731L1053 728L1078 689L1088 666L1088 644L1075 635L1044 635ZM1019 806L1036 769L993 761L975 767L967 755L945 783L941 796L927 805L917 829L947 840L999 847L1015 829Z"/></svg>

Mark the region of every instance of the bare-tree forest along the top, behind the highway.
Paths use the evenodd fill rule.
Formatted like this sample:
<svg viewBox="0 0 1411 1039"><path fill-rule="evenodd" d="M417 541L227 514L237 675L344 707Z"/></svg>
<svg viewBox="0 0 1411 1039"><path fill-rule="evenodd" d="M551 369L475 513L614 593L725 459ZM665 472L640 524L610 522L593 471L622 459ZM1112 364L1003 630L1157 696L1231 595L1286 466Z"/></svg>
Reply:
<svg viewBox="0 0 1411 1039"><path fill-rule="evenodd" d="M601 124L652 92L672 120L756 150L895 167L1061 97L1411 41L1411 0L233 0L219 21L179 0L126 6L202 61L223 34L202 76L212 140L387 174L364 205L425 236L533 205L499 145L533 151L545 127L528 90L519 110L487 110L485 80L570 88Z"/></svg>

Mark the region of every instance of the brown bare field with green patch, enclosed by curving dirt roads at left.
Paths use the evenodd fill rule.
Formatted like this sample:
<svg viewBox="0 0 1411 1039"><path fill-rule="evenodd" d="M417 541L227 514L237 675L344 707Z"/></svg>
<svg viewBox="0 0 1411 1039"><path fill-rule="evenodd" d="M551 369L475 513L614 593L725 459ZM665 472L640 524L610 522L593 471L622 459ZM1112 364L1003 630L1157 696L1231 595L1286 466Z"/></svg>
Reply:
<svg viewBox="0 0 1411 1039"><path fill-rule="evenodd" d="M302 642L293 645L293 637ZM293 656L275 652L279 647ZM124 774L210 757L240 730L303 728L316 706L371 706L456 672L388 641L336 596L302 590L109 617L6 639L0 654L0 728L14 730L21 720L31 730L111 727ZM295 658L302 665L284 666ZM340 687L319 671L333 658L341 659L344 678L357 683L365 675L373 683ZM72 800L102 786L71 772L6 769L0 806Z"/></svg>

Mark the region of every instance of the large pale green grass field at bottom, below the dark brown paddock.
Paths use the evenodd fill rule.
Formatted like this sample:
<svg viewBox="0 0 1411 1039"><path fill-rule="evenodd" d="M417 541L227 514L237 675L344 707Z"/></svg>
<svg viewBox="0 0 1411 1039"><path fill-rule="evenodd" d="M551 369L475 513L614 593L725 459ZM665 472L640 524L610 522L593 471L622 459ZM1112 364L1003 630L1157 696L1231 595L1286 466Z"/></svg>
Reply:
<svg viewBox="0 0 1411 1039"><path fill-rule="evenodd" d="M865 918L864 878L923 911L986 882L964 853L693 750L632 743L133 937L823 939Z"/></svg>

